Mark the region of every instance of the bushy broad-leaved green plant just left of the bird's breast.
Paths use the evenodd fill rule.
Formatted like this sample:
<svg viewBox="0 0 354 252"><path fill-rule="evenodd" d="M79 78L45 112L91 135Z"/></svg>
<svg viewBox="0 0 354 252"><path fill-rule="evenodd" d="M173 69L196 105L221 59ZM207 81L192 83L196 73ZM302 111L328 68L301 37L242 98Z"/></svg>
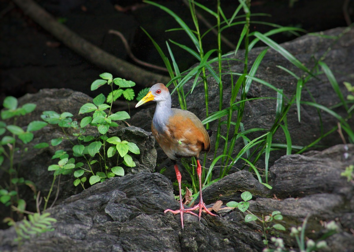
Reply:
<svg viewBox="0 0 354 252"><path fill-rule="evenodd" d="M135 167L136 164L133 161L130 153L139 154L140 150L138 146L133 142L121 140L117 136L108 138L107 133L111 127L118 127L115 121L125 120L130 118L129 114L125 111L118 111L111 113L113 102L120 96L124 96L127 101L130 101L134 97L134 91L131 88L135 85L130 80L121 78L114 78L110 73L102 73L99 75L102 79L97 79L91 84L91 90L96 90L100 86L108 84L111 87L111 92L106 97L103 94L96 96L92 103L86 103L81 106L79 114L90 114L80 121L80 123L73 121L73 114L64 112L58 114L54 111L45 111L42 114L42 119L50 124L57 124L62 128L66 139L69 140L73 147L73 155L75 157L83 157L86 163L75 163L74 158L70 158L69 155L59 150L53 156L59 158L58 164L53 164L48 167L48 170L54 170L54 179L60 174L73 173L74 185L81 185L84 189L84 183L86 182L85 173L91 174L89 178L90 185L98 182L103 182L107 178L114 177L116 175L123 176L124 169L121 166L124 164L128 167ZM118 88L113 89L113 84ZM98 131L98 135L85 135L86 127L95 127ZM78 144L70 139L69 134L65 128L72 128L74 133L72 134L77 138ZM63 138L53 139L51 144L58 145L62 142ZM109 146L109 144L113 146ZM113 158L115 153L116 161L114 166L110 167L108 164L108 158ZM99 166L100 171L94 172L93 166Z"/></svg>

